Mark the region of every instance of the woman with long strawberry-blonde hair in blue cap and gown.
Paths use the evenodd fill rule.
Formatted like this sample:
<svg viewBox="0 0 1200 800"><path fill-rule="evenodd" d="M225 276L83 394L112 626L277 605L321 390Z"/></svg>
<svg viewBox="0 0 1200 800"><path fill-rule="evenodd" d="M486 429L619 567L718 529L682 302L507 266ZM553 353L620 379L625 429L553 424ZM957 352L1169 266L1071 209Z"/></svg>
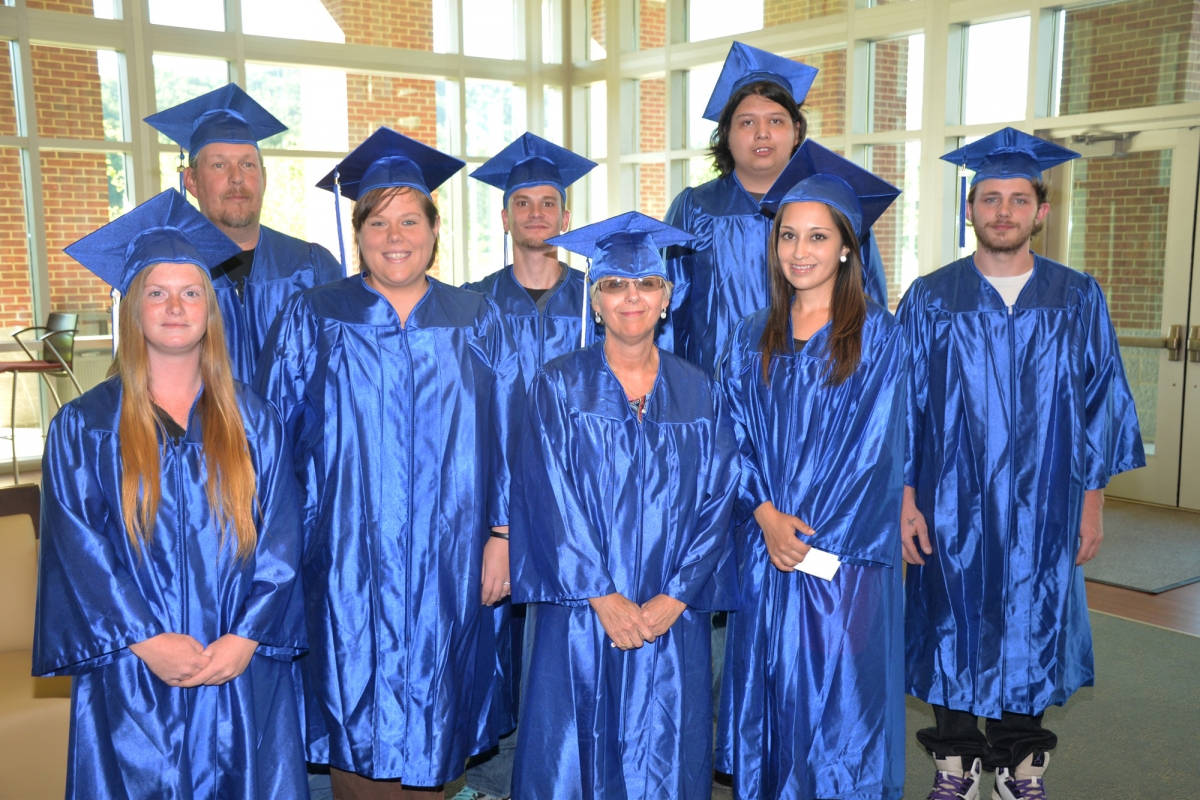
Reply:
<svg viewBox="0 0 1200 800"><path fill-rule="evenodd" d="M121 291L110 377L50 423L35 675L73 675L67 798L307 796L290 452L234 381L174 190L67 248Z"/></svg>

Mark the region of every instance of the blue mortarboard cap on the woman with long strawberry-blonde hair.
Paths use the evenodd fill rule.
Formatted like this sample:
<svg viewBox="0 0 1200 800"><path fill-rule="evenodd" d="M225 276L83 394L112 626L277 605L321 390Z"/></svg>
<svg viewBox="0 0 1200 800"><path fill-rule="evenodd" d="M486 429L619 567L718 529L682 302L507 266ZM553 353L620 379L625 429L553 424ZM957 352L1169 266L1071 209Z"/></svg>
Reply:
<svg viewBox="0 0 1200 800"><path fill-rule="evenodd" d="M137 273L154 264L196 264L211 270L241 248L169 188L65 252L124 295Z"/></svg>

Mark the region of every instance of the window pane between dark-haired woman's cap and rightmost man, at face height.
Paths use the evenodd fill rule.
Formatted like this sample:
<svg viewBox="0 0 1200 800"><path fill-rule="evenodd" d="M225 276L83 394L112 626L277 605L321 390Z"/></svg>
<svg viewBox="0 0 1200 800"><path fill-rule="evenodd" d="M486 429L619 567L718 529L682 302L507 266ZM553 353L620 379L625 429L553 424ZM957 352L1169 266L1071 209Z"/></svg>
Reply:
<svg viewBox="0 0 1200 800"><path fill-rule="evenodd" d="M917 207L920 200L920 143L866 148L866 168L902 190L871 229L888 278L888 305L895 311L917 277Z"/></svg>

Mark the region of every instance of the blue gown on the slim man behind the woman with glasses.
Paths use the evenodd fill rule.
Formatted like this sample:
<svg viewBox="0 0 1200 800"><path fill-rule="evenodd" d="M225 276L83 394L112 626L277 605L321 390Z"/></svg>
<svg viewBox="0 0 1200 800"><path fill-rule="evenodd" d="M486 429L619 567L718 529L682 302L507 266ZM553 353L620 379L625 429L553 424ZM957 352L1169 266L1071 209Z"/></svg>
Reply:
<svg viewBox="0 0 1200 800"><path fill-rule="evenodd" d="M580 347L580 335L587 325L588 344L596 339L596 326L592 321L590 303L587 323L583 321L583 273L565 264L566 278L551 290L545 308L539 308L534 299L512 275L512 265L493 272L482 281L464 283L470 289L491 297L500 309L521 360L521 374L526 387L550 360ZM498 724L504 720L516 720L521 696L521 651L526 633L523 609L514 615L512 603L502 601L493 607L499 681L493 714Z"/></svg>

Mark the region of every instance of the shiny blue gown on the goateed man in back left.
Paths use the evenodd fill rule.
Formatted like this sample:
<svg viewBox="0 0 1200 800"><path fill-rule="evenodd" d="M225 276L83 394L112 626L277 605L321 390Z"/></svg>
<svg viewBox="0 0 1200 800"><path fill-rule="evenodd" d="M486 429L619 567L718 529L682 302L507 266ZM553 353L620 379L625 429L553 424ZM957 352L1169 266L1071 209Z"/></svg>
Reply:
<svg viewBox="0 0 1200 800"><path fill-rule="evenodd" d="M233 377L246 384L254 380L258 354L263 351L266 333L288 297L337 281L343 275L342 265L320 245L262 225L254 261L241 287L241 296L238 284L228 276L212 279L224 321Z"/></svg>

